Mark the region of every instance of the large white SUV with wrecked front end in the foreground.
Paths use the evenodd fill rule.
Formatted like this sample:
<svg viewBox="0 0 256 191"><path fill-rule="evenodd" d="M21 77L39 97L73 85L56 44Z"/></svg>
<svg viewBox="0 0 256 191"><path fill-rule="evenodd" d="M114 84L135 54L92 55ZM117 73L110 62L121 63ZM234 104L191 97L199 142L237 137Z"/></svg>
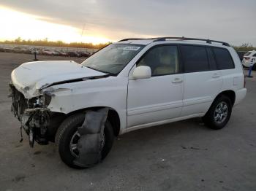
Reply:
<svg viewBox="0 0 256 191"><path fill-rule="evenodd" d="M221 129L246 95L236 51L209 39L124 39L81 64L23 63L11 76L12 111L31 146L34 140L55 141L73 168L84 167L75 160L82 144L78 129L88 112L108 109L104 135L97 139L104 159L114 136L131 130L192 117Z"/></svg>

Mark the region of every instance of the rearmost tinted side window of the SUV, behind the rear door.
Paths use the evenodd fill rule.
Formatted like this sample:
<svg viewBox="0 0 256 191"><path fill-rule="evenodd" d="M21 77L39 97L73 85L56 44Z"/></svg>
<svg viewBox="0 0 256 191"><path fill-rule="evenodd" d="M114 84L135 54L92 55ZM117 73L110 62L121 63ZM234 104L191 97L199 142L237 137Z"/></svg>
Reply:
<svg viewBox="0 0 256 191"><path fill-rule="evenodd" d="M233 69L234 64L230 52L224 48L213 48L215 59L217 61L218 69Z"/></svg>

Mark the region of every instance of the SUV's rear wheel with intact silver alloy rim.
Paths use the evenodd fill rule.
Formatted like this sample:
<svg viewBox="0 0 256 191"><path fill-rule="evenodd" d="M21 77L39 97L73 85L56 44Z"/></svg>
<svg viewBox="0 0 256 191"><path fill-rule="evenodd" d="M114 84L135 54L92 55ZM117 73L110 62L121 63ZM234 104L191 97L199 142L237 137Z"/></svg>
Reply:
<svg viewBox="0 0 256 191"><path fill-rule="evenodd" d="M203 117L203 122L209 128L215 130L222 129L230 120L231 112L232 103L230 98L225 95L219 95Z"/></svg>

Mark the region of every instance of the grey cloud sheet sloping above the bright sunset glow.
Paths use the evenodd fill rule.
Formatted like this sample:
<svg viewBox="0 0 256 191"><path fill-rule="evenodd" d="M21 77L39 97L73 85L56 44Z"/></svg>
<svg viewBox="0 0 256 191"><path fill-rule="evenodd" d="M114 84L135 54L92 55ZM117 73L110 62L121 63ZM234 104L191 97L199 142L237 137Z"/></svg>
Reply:
<svg viewBox="0 0 256 191"><path fill-rule="evenodd" d="M192 36L256 45L255 0L1 0L1 4L112 40Z"/></svg>

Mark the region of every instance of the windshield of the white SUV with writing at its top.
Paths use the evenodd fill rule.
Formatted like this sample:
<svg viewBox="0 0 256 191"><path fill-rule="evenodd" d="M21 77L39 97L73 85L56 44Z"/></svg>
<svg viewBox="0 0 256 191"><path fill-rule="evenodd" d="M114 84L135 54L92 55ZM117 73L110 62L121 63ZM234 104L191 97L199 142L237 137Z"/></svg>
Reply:
<svg viewBox="0 0 256 191"><path fill-rule="evenodd" d="M118 74L143 49L138 44L110 44L81 63L90 69Z"/></svg>

